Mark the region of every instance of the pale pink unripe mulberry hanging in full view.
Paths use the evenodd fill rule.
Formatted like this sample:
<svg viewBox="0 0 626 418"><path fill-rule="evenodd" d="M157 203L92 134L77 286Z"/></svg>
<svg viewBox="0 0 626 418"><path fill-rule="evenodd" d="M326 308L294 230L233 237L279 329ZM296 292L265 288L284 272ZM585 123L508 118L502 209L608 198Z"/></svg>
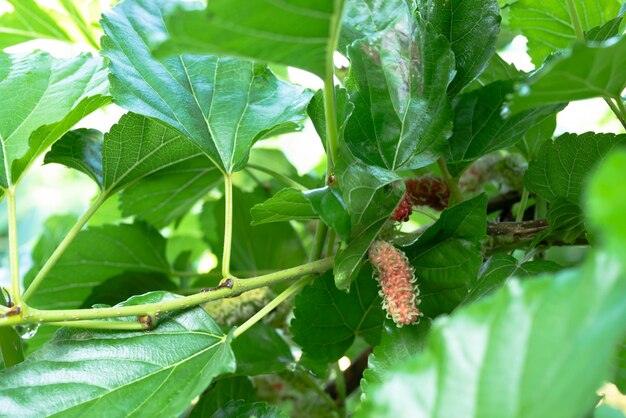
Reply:
<svg viewBox="0 0 626 418"><path fill-rule="evenodd" d="M374 241L368 255L377 273L379 294L387 317L398 327L419 322L423 316L417 308L419 289L413 267L404 252L387 241Z"/></svg>

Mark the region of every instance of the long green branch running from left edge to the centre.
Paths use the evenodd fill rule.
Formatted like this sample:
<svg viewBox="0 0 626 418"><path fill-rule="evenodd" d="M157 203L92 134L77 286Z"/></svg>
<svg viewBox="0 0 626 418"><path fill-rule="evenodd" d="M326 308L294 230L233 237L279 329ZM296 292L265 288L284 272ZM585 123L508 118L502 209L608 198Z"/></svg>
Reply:
<svg viewBox="0 0 626 418"><path fill-rule="evenodd" d="M28 324L33 322L81 321L87 319L119 318L128 316L149 315L158 319L162 313L196 306L222 298L240 295L249 290L271 286L307 274L320 274L332 268L333 259L324 258L312 263L277 271L249 279L231 278L215 289L197 293L191 296L167 300L158 303L148 303L135 306L118 306L111 308L94 309L66 309L66 310L39 310L29 308L21 315L5 316L0 318L0 326Z"/></svg>

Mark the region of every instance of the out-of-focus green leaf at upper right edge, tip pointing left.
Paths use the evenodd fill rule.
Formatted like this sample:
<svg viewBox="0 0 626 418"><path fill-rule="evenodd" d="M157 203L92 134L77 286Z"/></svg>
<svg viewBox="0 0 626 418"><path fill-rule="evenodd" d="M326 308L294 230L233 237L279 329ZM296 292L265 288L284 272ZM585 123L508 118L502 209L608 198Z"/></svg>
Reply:
<svg viewBox="0 0 626 418"><path fill-rule="evenodd" d="M510 110L592 97L619 99L626 88L626 37L604 43L576 43L552 57L517 87Z"/></svg>

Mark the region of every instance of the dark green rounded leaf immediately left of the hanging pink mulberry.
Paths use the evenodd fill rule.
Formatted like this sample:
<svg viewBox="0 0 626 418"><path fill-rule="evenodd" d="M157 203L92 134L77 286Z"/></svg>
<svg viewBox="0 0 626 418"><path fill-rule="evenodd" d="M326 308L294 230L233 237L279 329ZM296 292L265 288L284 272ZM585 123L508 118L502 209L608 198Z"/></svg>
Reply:
<svg viewBox="0 0 626 418"><path fill-rule="evenodd" d="M306 357L318 362L336 361L357 336L369 344L378 343L384 318L380 305L371 268L361 270L350 293L337 289L333 275L326 273L296 296L293 339Z"/></svg>

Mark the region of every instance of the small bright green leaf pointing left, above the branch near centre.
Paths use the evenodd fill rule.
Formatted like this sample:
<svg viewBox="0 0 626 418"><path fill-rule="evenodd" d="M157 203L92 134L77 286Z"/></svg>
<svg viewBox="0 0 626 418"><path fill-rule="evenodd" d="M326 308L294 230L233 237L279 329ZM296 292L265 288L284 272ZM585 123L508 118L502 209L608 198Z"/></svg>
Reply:
<svg viewBox="0 0 626 418"><path fill-rule="evenodd" d="M282 189L263 203L250 209L252 225L270 222L316 219L306 196L296 189Z"/></svg>

